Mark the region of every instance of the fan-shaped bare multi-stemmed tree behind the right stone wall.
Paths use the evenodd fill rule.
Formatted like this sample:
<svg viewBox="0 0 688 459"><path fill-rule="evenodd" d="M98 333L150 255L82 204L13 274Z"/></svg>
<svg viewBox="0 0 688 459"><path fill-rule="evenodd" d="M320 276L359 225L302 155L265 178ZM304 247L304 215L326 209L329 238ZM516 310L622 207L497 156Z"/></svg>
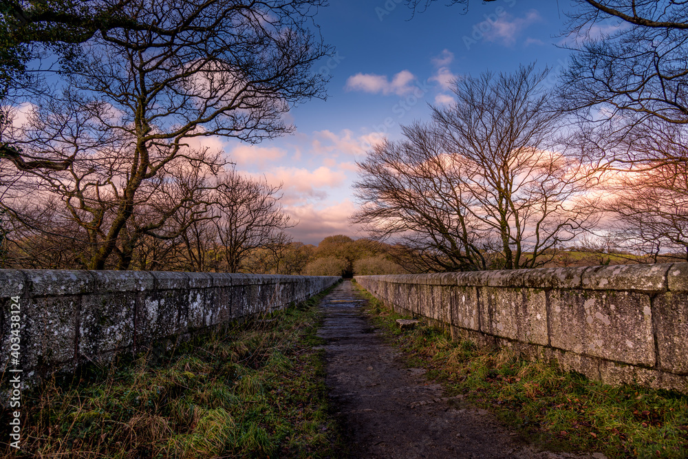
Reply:
<svg viewBox="0 0 688 459"><path fill-rule="evenodd" d="M363 207L352 218L378 239L400 236L423 270L533 268L592 214L581 163L552 151L558 117L533 65L455 85L431 125L404 129L359 163ZM424 265L424 266L422 266Z"/></svg>

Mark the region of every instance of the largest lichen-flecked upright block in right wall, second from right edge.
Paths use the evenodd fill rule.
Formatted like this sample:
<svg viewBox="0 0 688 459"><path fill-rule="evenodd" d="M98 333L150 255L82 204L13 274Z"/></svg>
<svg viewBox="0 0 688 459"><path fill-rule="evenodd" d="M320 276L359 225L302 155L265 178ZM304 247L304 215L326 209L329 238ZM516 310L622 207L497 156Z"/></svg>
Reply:
<svg viewBox="0 0 688 459"><path fill-rule="evenodd" d="M549 312L552 347L654 366L648 295L617 290L552 290Z"/></svg>

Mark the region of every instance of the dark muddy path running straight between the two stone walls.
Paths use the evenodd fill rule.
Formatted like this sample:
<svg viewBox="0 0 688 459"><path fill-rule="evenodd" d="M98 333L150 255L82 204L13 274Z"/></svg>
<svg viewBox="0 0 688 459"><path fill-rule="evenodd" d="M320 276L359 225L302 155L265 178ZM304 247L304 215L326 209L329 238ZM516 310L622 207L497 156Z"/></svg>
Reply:
<svg viewBox="0 0 688 459"><path fill-rule="evenodd" d="M363 316L350 281L321 303L326 317L327 386L354 458L588 458L539 451L460 396L446 398L407 368Z"/></svg>

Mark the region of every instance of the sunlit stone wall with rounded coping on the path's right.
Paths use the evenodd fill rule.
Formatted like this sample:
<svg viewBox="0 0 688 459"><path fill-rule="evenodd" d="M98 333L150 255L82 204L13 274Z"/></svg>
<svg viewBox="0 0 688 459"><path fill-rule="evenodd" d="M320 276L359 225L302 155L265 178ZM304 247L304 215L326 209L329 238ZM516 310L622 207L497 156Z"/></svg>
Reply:
<svg viewBox="0 0 688 459"><path fill-rule="evenodd" d="M688 263L356 277L452 336L606 383L688 392Z"/></svg>

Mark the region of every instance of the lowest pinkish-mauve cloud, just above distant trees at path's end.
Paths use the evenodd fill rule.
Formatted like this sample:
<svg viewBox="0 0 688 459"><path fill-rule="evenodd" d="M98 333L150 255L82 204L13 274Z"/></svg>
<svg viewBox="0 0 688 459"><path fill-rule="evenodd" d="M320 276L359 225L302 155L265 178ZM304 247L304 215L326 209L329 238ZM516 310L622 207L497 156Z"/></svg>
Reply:
<svg viewBox="0 0 688 459"><path fill-rule="evenodd" d="M360 229L348 222L349 216L356 211L356 206L350 200L336 202L323 208L312 204L289 206L285 211L292 217L293 222L299 222L297 226L288 230L295 241L317 245L325 237L335 234L361 237Z"/></svg>

